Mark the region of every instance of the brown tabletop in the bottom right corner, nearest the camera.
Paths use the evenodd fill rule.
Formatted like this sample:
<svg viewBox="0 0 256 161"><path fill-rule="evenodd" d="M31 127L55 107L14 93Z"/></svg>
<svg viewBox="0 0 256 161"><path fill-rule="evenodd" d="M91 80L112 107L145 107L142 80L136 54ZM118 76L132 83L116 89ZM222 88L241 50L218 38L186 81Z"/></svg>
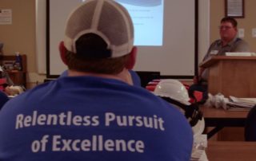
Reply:
<svg viewBox="0 0 256 161"><path fill-rule="evenodd" d="M256 160L256 142L212 141L208 142L206 155L209 161Z"/></svg>

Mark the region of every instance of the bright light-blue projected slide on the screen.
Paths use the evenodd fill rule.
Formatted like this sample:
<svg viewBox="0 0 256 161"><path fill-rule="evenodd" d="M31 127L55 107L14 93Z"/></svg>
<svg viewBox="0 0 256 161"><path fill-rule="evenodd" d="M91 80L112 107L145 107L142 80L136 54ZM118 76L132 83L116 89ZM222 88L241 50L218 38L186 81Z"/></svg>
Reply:
<svg viewBox="0 0 256 161"><path fill-rule="evenodd" d="M134 22L134 45L162 45L164 0L116 1L126 7Z"/></svg>

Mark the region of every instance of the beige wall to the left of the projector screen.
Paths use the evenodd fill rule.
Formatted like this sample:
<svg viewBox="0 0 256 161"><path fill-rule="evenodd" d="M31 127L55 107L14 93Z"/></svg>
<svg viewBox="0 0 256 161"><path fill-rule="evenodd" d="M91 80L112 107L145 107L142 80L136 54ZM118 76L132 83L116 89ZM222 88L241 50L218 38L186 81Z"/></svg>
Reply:
<svg viewBox="0 0 256 161"><path fill-rule="evenodd" d="M36 72L35 0L0 0L0 9L11 9L13 16L11 25L0 25L4 54L26 54L28 72Z"/></svg>

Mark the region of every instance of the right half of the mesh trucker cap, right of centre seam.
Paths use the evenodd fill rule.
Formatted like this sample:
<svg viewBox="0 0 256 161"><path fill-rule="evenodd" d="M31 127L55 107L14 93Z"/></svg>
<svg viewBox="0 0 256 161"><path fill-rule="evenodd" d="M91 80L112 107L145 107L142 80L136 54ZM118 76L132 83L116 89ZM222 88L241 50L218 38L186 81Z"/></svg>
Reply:
<svg viewBox="0 0 256 161"><path fill-rule="evenodd" d="M112 57L120 57L132 49L134 28L128 12L118 3L109 2L103 4L98 30L108 37ZM110 27L106 27L106 24L110 24Z"/></svg>

